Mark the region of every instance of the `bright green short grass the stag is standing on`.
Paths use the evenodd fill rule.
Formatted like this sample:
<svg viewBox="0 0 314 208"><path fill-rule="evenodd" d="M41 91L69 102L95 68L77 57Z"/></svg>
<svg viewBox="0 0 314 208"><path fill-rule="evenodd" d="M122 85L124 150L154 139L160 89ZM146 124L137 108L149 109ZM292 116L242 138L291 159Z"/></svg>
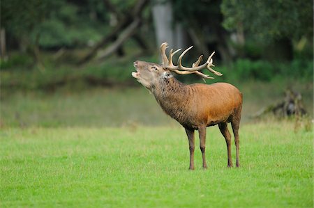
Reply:
<svg viewBox="0 0 314 208"><path fill-rule="evenodd" d="M313 132L293 129L242 125L241 168L226 168L210 127L209 168L197 149L190 171L179 125L3 128L0 207L313 207Z"/></svg>

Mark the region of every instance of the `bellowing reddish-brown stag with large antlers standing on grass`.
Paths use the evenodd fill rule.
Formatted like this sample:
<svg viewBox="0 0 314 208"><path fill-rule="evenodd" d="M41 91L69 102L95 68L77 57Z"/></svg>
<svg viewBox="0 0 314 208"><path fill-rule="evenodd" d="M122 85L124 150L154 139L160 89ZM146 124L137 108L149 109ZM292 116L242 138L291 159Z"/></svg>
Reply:
<svg viewBox="0 0 314 208"><path fill-rule="evenodd" d="M228 167L232 167L231 157L231 135L227 129L227 122L231 122L236 145L237 162L239 167L239 124L242 109L242 94L229 83L213 83L211 85L194 83L186 85L175 79L171 72L177 74L197 74L203 79L214 79L207 74L199 72L207 68L210 72L221 76L220 72L211 69L213 59L211 56L207 62L199 65L202 61L200 56L192 67L182 65L182 57L191 49L186 49L178 59L178 65L173 65L172 57L180 49L171 49L169 57L165 51L167 43L160 46L163 65L135 61L134 66L137 72L132 72L132 76L154 94L158 104L163 111L177 120L185 129L190 146L190 170L194 169L194 131L197 129L200 136L200 150L202 151L203 168L207 168L205 159L206 127L218 125L221 134L227 143Z"/></svg>

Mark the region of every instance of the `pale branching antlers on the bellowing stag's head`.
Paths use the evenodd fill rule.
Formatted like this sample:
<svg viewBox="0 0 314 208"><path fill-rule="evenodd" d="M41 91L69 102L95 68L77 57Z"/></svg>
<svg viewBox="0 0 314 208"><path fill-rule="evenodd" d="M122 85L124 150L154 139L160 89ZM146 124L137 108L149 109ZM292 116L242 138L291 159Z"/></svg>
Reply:
<svg viewBox="0 0 314 208"><path fill-rule="evenodd" d="M183 51L183 53L179 56L178 65L173 65L172 57L174 56L174 54L177 54L177 52L180 51L181 49L177 49L177 51L174 51L174 52L172 52L173 49L171 49L169 53L169 59L168 59L165 52L167 47L168 47L167 42L164 42L162 45L160 45L161 56L163 58L163 67L165 67L167 70L170 70L177 74L197 74L197 75L200 75L200 77L202 77L203 79L214 79L214 77L209 77L209 75L199 72L199 70L202 70L204 68L207 68L209 72L216 74L217 76L223 75L220 72L217 72L211 68L212 66L213 67L215 66L213 64L213 59L211 58L212 56L214 56L215 52L213 52L211 56L207 58L207 61L203 63L202 65L200 65L200 62L202 61L203 55L197 58L197 61L193 63L192 67L184 67L182 65L182 58L193 46Z"/></svg>

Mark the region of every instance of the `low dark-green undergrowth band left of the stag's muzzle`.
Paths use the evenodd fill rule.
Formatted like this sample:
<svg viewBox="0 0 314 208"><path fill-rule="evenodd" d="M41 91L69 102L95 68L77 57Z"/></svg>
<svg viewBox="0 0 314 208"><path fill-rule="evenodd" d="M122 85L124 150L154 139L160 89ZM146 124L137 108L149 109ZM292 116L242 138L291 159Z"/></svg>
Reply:
<svg viewBox="0 0 314 208"><path fill-rule="evenodd" d="M136 55L136 50L133 50L133 54ZM75 90L81 86L125 86L127 83L133 83L134 79L130 74L134 69L134 60L134 56L113 57L104 63L94 63L77 69L77 66L73 67L70 63L56 63L48 54L43 70L36 65L27 65L29 56L17 54L7 62L2 62L1 88L52 90L68 85L73 86ZM145 57L144 60L157 62L154 56Z"/></svg>

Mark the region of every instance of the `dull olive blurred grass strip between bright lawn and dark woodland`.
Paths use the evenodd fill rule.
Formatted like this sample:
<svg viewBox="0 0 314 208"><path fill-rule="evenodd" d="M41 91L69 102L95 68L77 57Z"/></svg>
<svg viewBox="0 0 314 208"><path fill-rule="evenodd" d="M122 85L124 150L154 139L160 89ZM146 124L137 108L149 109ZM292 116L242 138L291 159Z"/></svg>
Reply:
<svg viewBox="0 0 314 208"><path fill-rule="evenodd" d="M136 81L135 81L136 82ZM137 82L136 82L137 83ZM0 126L6 127L124 127L134 125L177 125L158 106L153 95L142 88L94 88L77 91L66 88L54 93L1 91ZM313 115L313 82L288 81L235 84L244 94L242 123L265 106L284 99L287 86L303 96Z"/></svg>

